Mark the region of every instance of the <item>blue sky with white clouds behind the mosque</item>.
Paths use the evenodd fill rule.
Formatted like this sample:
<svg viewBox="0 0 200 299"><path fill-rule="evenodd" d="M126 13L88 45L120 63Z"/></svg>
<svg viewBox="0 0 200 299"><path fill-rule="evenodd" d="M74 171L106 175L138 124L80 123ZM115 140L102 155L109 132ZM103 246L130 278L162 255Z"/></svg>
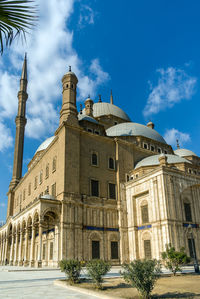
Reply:
<svg viewBox="0 0 200 299"><path fill-rule="evenodd" d="M29 99L24 167L53 135L68 65L79 78L78 105L90 94L155 123L176 148L200 155L200 2L198 0L37 1L40 22L27 42L0 57L0 221L12 176L17 92L28 54Z"/></svg>

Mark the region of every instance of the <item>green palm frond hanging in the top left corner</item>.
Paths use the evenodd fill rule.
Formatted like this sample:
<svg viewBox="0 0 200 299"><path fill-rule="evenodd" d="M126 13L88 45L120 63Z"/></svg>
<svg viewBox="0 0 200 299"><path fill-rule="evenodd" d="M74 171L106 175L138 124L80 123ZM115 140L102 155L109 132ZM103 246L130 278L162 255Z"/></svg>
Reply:
<svg viewBox="0 0 200 299"><path fill-rule="evenodd" d="M11 45L17 35L25 39L27 30L33 28L38 19L33 0L0 0L0 52L3 54L4 40Z"/></svg>

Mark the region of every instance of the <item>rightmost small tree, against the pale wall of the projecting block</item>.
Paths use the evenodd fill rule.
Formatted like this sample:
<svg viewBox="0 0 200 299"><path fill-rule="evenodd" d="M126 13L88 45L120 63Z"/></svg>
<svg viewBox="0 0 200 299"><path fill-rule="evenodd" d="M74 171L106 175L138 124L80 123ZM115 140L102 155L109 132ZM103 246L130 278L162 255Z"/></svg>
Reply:
<svg viewBox="0 0 200 299"><path fill-rule="evenodd" d="M185 253L184 247L180 251L176 251L171 244L166 245L166 251L162 252L162 259L167 269L176 275L177 271L181 271L181 266L190 262L190 258Z"/></svg>

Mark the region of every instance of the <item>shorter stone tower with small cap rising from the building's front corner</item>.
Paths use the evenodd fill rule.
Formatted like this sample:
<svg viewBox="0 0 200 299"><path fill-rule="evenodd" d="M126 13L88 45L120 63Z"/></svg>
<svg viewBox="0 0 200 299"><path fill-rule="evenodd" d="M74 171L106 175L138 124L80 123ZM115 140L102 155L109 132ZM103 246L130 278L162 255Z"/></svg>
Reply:
<svg viewBox="0 0 200 299"><path fill-rule="evenodd" d="M62 78L63 99L62 108L60 111L60 125L63 122L67 122L71 125L78 125L78 112L76 107L77 83L78 79L76 75L71 71L71 66L69 66L69 71Z"/></svg>

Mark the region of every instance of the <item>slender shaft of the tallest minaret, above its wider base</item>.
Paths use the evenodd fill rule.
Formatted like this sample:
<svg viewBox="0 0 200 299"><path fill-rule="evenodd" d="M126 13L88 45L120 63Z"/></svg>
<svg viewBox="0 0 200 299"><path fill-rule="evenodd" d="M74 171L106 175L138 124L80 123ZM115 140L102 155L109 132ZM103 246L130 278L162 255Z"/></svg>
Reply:
<svg viewBox="0 0 200 299"><path fill-rule="evenodd" d="M15 152L13 163L13 176L10 187L15 187L22 177L23 149L24 149L24 130L26 125L26 100L27 94L27 59L26 54L20 79L20 90L18 92L18 113L15 118L16 135L15 135Z"/></svg>

